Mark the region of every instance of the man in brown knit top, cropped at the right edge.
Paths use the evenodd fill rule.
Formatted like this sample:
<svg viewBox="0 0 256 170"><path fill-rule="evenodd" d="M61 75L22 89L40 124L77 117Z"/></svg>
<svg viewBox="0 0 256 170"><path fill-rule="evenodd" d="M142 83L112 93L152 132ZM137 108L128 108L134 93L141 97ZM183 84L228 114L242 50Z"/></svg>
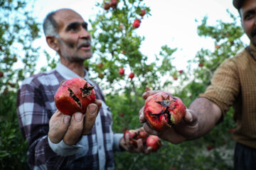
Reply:
<svg viewBox="0 0 256 170"><path fill-rule="evenodd" d="M215 71L210 86L188 107L183 122L174 128L156 131L139 112L144 129L164 140L180 143L210 132L230 106L234 108L235 169L256 169L256 1L233 0L250 45ZM146 99L158 91L147 91Z"/></svg>

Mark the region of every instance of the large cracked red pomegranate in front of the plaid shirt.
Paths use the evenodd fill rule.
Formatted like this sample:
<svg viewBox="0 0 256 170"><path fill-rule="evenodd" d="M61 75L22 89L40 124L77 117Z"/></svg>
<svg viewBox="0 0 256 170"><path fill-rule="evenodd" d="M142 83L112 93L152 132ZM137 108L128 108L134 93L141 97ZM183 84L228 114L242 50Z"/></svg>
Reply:
<svg viewBox="0 0 256 170"><path fill-rule="evenodd" d="M85 79L76 77L60 85L54 101L60 112L73 115L76 112L85 113L87 106L93 103L95 98L94 86Z"/></svg>

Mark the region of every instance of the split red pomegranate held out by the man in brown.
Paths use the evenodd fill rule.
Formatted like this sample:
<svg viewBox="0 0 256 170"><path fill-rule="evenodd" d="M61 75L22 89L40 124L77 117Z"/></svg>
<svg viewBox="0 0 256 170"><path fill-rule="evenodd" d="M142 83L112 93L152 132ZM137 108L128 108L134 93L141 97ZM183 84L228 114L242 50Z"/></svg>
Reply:
<svg viewBox="0 0 256 170"><path fill-rule="evenodd" d="M180 123L185 116L186 106L181 99L169 92L161 91L146 98L144 117L155 130L164 130Z"/></svg>

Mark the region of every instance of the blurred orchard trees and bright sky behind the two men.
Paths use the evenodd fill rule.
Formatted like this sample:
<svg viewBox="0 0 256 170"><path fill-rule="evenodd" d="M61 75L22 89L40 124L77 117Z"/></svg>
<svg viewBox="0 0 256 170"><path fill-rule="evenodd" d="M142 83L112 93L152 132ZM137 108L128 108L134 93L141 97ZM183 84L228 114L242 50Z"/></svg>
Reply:
<svg viewBox="0 0 256 170"><path fill-rule="evenodd" d="M108 10L106 2L0 1L0 169L26 169L16 93L23 79L58 62L43 35L50 11L72 8L88 22L94 55L85 67L103 89L114 132L142 126L138 113L149 89L170 91L189 106L223 60L249 43L232 0L119 0ZM135 19L141 21L138 28L132 26ZM234 128L230 108L205 137L181 145L163 141L158 152L146 156L117 153L116 169L233 169Z"/></svg>

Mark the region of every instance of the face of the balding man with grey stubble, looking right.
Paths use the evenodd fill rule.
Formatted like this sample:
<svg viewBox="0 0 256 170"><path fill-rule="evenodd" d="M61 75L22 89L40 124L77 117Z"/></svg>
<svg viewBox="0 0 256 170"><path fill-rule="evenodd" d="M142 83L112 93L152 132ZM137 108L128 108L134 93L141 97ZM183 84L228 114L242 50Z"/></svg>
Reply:
<svg viewBox="0 0 256 170"><path fill-rule="evenodd" d="M57 11L54 16L58 23L58 53L70 62L83 62L92 57L90 34L87 23L70 9Z"/></svg>

